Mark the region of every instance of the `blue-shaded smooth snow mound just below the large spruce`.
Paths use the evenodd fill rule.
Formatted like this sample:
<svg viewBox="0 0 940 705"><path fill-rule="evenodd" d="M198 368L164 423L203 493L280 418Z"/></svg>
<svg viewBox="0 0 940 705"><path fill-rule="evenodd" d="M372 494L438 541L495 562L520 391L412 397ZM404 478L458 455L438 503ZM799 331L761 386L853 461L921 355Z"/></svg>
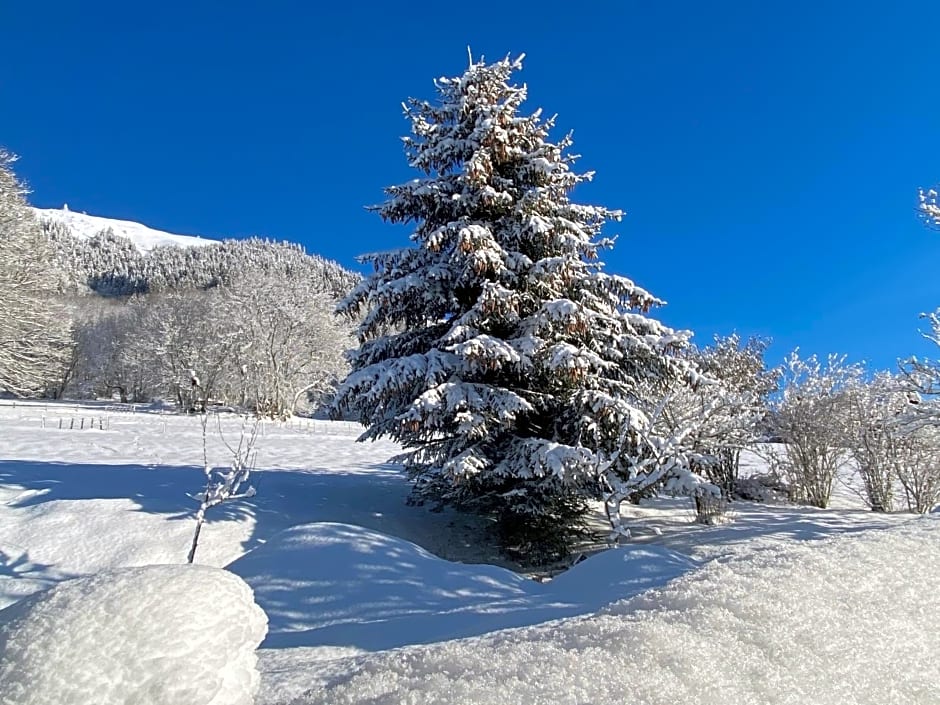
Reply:
<svg viewBox="0 0 940 705"><path fill-rule="evenodd" d="M228 566L270 620L265 647L369 651L477 636L594 612L696 564L669 549L606 551L540 584L505 568L451 563L350 524L273 536Z"/></svg>

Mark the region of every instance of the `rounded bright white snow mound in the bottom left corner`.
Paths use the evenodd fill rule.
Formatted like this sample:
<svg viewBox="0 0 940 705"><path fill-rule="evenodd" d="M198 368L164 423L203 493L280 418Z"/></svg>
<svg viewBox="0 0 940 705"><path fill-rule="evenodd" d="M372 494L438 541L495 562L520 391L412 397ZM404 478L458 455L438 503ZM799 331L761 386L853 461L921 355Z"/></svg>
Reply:
<svg viewBox="0 0 940 705"><path fill-rule="evenodd" d="M250 705L266 618L218 568L127 568L0 611L4 705Z"/></svg>

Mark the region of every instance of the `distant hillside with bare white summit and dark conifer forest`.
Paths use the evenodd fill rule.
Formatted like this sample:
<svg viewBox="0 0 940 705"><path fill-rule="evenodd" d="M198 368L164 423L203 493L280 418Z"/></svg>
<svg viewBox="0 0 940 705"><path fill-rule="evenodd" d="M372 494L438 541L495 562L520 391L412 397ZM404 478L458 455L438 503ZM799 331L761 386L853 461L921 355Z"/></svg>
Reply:
<svg viewBox="0 0 940 705"><path fill-rule="evenodd" d="M210 289L247 273L283 274L339 298L360 275L298 244L252 237L210 240L67 209L34 209L49 240L59 289L130 296Z"/></svg>

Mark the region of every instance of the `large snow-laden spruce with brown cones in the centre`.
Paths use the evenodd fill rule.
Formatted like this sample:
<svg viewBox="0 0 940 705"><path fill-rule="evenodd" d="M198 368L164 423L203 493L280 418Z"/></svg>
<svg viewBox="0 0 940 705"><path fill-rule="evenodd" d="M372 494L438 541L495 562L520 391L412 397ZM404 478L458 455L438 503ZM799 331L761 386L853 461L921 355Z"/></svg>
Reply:
<svg viewBox="0 0 940 705"><path fill-rule="evenodd" d="M402 443L418 497L494 516L535 562L567 550L602 473L635 476L641 382L691 366L670 354L687 336L644 315L662 302L602 272L601 229L621 213L569 200L592 174L572 171L570 136L549 141L554 119L520 114L520 68L471 61L435 82L437 102L404 106L421 176L376 210L413 224L414 246L363 257L334 412Z"/></svg>

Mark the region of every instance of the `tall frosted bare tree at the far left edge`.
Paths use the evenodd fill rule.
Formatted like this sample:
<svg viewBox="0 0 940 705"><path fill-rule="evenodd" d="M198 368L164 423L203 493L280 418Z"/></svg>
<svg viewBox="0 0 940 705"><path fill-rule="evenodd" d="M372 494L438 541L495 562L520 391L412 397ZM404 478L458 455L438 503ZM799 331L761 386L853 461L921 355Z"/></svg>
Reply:
<svg viewBox="0 0 940 705"><path fill-rule="evenodd" d="M14 161L0 149L0 392L32 396L64 384L71 335Z"/></svg>

